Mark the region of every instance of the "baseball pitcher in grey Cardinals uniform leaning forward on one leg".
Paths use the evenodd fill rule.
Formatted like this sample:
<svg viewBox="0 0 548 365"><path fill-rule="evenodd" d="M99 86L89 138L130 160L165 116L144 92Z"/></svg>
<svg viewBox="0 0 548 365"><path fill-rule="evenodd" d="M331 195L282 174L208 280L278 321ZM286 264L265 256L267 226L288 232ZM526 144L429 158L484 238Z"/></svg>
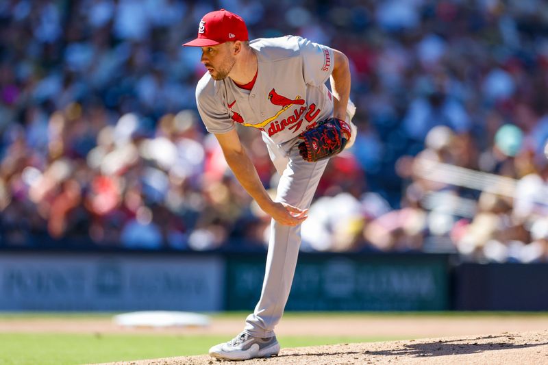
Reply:
<svg viewBox="0 0 548 365"><path fill-rule="evenodd" d="M249 41L242 18L224 9L203 16L197 38L184 46L201 47L207 68L196 88L203 123L240 184L272 216L260 300L242 333L212 347L210 355L225 360L277 355L274 327L295 273L300 225L329 157L356 139L348 60L297 36ZM332 92L325 85L329 78ZM275 200L240 144L236 123L262 132L281 175Z"/></svg>

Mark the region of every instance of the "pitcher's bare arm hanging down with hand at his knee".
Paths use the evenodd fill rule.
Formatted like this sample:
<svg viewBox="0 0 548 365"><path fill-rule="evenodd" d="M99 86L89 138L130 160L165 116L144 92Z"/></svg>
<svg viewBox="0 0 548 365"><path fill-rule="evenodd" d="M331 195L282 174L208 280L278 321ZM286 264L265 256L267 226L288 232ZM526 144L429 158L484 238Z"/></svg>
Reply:
<svg viewBox="0 0 548 365"><path fill-rule="evenodd" d="M240 142L236 129L223 134L215 134L215 136L221 144L225 160L236 179L266 214L272 216L282 225L299 225L307 218L308 210L300 210L286 203L275 202L270 198L262 186L255 166Z"/></svg>

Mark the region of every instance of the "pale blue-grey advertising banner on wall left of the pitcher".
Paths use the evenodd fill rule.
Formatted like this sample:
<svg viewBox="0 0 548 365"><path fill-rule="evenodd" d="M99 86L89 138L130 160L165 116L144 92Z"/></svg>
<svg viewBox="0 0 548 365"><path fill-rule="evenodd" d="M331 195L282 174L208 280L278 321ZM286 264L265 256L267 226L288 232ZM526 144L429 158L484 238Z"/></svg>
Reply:
<svg viewBox="0 0 548 365"><path fill-rule="evenodd" d="M1 253L0 310L223 309L222 257Z"/></svg>

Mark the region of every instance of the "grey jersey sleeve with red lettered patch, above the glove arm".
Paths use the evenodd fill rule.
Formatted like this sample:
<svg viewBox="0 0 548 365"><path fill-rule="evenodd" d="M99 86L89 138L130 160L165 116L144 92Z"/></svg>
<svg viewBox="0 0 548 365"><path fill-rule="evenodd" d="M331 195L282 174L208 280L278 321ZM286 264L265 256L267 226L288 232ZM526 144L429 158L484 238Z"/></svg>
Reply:
<svg viewBox="0 0 548 365"><path fill-rule="evenodd" d="M303 59L303 77L306 84L321 86L333 72L333 49L311 42L306 38L298 40L301 58Z"/></svg>

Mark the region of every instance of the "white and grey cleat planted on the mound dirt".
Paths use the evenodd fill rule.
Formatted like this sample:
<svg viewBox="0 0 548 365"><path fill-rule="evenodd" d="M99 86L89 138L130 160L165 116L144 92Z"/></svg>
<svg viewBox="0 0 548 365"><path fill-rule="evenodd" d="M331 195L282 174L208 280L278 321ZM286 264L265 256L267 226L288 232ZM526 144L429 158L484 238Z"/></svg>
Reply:
<svg viewBox="0 0 548 365"><path fill-rule="evenodd" d="M271 357L279 353L276 336L258 338L242 332L229 342L216 344L210 349L210 356L223 360L249 360L255 357Z"/></svg>

